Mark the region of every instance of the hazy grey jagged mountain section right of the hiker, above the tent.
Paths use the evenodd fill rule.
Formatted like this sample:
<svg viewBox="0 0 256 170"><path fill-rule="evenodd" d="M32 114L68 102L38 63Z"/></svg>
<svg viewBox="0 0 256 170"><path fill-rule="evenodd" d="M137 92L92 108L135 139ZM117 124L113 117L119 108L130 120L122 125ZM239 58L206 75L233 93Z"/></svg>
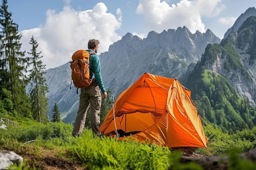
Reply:
<svg viewBox="0 0 256 170"><path fill-rule="evenodd" d="M127 33L100 55L104 84L118 96L145 72L180 78L189 64L200 60L207 44L219 42L210 30L192 34L185 26L151 31L143 40Z"/></svg>

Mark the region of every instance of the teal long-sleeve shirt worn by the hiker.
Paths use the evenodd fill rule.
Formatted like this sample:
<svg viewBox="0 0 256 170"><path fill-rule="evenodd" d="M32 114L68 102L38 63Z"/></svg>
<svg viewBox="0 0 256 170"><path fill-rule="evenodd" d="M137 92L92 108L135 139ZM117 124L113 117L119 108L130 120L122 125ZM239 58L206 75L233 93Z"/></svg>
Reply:
<svg viewBox="0 0 256 170"><path fill-rule="evenodd" d="M93 53L92 50L86 50L89 53ZM102 77L101 77L101 65L100 65L100 61L99 61L99 56L97 54L93 54L90 55L90 77L93 76L94 73L94 77L96 82L99 85L99 88L101 89L102 93L106 92L106 89L103 85L103 81L102 81Z"/></svg>

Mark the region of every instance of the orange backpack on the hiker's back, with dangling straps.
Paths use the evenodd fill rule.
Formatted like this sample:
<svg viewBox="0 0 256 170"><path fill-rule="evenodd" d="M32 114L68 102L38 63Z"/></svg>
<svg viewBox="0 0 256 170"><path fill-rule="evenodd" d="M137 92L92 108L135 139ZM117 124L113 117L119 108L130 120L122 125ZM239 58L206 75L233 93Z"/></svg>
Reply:
<svg viewBox="0 0 256 170"><path fill-rule="evenodd" d="M72 62L70 62L70 67L72 69L71 78L76 88L88 88L92 83L92 79L90 79L89 60L90 55L92 54L94 53L89 54L88 51L78 50L72 55Z"/></svg>

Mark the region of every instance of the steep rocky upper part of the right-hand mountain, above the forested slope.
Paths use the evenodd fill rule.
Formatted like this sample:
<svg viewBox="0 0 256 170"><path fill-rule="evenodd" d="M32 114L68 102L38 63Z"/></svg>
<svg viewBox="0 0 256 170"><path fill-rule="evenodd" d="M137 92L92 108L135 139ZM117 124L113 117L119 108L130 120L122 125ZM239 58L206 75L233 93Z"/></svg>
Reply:
<svg viewBox="0 0 256 170"><path fill-rule="evenodd" d="M209 52L207 49L205 53ZM240 96L256 106L256 17L247 18L238 31L229 33L215 49L211 59L203 55L205 68L227 78Z"/></svg>

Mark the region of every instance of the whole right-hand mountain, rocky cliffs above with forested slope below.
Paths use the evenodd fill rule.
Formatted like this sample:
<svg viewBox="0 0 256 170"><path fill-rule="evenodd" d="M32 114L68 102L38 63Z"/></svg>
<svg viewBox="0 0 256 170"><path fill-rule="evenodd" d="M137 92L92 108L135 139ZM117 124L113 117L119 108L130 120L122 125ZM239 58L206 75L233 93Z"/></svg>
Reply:
<svg viewBox="0 0 256 170"><path fill-rule="evenodd" d="M198 113L223 132L256 126L256 17L220 44L208 44L184 86Z"/></svg>

